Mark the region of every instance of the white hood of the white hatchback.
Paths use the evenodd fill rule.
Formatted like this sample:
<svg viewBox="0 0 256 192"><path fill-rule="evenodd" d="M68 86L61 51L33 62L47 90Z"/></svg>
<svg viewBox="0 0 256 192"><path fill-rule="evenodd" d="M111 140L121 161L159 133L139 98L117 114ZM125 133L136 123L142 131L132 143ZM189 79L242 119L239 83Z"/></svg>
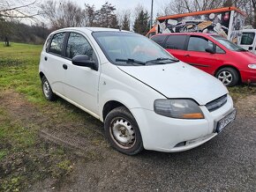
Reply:
<svg viewBox="0 0 256 192"><path fill-rule="evenodd" d="M228 92L221 81L182 62L118 68L166 98L190 98L206 105Z"/></svg>

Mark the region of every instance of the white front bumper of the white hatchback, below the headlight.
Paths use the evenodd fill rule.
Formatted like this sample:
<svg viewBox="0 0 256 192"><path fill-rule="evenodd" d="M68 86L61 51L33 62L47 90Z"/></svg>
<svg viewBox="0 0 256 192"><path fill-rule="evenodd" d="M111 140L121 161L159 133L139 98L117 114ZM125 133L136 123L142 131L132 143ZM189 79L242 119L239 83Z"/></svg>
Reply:
<svg viewBox="0 0 256 192"><path fill-rule="evenodd" d="M217 135L216 124L233 110L233 101L228 96L225 105L209 112L207 107L201 110L205 119L184 120L155 114L154 111L131 109L139 124L144 148L154 151L186 151L206 143Z"/></svg>

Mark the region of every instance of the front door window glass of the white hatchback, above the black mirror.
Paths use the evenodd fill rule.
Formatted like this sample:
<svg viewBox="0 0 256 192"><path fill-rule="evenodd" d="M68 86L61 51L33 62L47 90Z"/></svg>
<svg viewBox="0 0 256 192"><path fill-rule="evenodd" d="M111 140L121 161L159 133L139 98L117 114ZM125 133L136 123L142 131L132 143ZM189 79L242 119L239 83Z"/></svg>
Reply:
<svg viewBox="0 0 256 192"><path fill-rule="evenodd" d="M73 58L75 55L88 55L92 57L93 48L87 39L79 33L70 33L66 48L66 57Z"/></svg>

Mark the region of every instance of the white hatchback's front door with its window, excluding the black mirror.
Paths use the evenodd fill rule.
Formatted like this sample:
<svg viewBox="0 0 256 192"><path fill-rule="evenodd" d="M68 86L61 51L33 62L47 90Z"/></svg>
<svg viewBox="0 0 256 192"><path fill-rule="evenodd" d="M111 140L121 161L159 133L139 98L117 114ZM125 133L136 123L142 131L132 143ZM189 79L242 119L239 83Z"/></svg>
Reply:
<svg viewBox="0 0 256 192"><path fill-rule="evenodd" d="M94 114L99 114L97 98L100 71L72 64L72 58L75 55L88 55L98 63L94 49L87 41L87 38L80 33L70 33L65 48L65 57L67 58L64 63L66 65L64 78L65 95L68 99L79 104L79 106Z"/></svg>

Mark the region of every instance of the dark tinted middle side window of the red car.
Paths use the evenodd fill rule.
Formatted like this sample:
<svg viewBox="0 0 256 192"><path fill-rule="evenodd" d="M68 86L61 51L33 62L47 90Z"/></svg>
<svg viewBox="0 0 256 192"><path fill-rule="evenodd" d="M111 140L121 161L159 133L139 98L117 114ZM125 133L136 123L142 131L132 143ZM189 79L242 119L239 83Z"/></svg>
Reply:
<svg viewBox="0 0 256 192"><path fill-rule="evenodd" d="M165 48L184 49L186 37L186 35L169 35L165 43Z"/></svg>

